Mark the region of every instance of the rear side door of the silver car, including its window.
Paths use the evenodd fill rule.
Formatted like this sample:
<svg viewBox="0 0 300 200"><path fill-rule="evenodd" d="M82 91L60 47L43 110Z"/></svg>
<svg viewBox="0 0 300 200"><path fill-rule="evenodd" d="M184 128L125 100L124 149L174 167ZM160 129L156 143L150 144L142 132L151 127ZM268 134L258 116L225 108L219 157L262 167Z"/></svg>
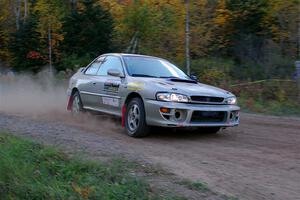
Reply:
<svg viewBox="0 0 300 200"><path fill-rule="evenodd" d="M101 86L98 83L100 77L97 76L97 72L101 63L105 59L101 56L95 59L85 70L83 79L79 87L80 97L85 108L95 108L99 104L98 98L101 93Z"/></svg>

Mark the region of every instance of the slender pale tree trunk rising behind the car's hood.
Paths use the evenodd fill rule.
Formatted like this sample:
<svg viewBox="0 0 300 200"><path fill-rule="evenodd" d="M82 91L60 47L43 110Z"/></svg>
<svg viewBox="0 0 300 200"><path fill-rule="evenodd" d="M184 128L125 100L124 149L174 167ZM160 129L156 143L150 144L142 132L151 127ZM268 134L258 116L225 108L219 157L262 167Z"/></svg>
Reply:
<svg viewBox="0 0 300 200"><path fill-rule="evenodd" d="M185 19L185 60L186 60L186 71L187 74L191 74L190 69L190 10L189 0L186 0L186 19Z"/></svg>

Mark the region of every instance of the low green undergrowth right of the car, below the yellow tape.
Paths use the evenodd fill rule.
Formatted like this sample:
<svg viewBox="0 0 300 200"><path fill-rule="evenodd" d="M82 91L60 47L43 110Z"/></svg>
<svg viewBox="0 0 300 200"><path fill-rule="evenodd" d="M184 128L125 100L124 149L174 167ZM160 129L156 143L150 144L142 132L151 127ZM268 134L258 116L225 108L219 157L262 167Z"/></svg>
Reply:
<svg viewBox="0 0 300 200"><path fill-rule="evenodd" d="M244 111L275 115L300 115L297 84L294 81L270 80L232 87Z"/></svg>

